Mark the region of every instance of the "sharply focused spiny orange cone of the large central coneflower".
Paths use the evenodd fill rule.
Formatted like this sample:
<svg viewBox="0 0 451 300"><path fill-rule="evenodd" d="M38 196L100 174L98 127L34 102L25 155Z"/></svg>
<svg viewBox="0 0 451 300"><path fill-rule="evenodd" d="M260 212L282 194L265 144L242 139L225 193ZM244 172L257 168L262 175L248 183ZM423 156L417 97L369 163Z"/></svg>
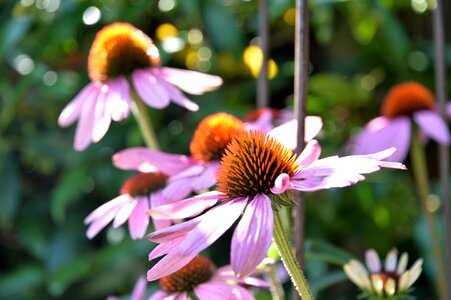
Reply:
<svg viewBox="0 0 451 300"><path fill-rule="evenodd" d="M260 131L249 131L227 147L216 176L217 190L227 200L269 195L280 174L293 176L299 168L290 149Z"/></svg>

